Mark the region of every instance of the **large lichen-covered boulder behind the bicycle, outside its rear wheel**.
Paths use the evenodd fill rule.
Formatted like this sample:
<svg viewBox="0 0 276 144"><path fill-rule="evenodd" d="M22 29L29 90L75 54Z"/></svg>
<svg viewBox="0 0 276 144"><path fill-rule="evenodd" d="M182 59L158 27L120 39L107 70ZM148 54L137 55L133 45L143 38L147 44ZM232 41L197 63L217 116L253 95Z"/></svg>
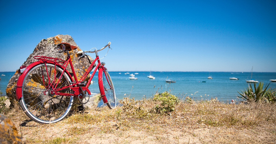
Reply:
<svg viewBox="0 0 276 144"><path fill-rule="evenodd" d="M58 52L59 49L57 48L57 44L63 43L63 42L69 43L70 45L73 45L73 46L77 46L77 44L74 42L74 39L70 35L56 35L55 37L42 39L40 43L38 43L38 45L34 48L33 53L29 55L27 60L22 65L28 66L31 63L38 61L37 59L33 58L34 56L49 56L49 57L66 60L67 58L66 52L59 53ZM77 51L81 51L81 48L79 48L78 46L76 49L69 51L69 54L72 59L76 76L78 79L80 79L85 73L85 71L88 69L88 67L91 65L91 63L93 62L93 59L88 55L81 57L82 54L77 54L76 53ZM66 69L70 73L72 72L72 70L70 69L70 65L68 65ZM20 74L16 71L16 73L9 80L9 83L6 89L6 94L8 97L16 99L16 83L19 76ZM85 78L85 81L89 80L89 76L90 75L88 75Z"/></svg>

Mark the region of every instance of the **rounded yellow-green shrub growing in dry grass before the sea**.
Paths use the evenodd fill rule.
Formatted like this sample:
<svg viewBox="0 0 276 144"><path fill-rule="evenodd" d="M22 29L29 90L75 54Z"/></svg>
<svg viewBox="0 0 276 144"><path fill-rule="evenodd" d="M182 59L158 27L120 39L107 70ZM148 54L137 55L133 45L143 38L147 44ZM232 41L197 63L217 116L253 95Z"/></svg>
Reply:
<svg viewBox="0 0 276 144"><path fill-rule="evenodd" d="M159 102L155 106L155 111L161 114L168 114L174 111L175 106L179 103L179 98L167 91L161 94L155 94L153 99Z"/></svg>

